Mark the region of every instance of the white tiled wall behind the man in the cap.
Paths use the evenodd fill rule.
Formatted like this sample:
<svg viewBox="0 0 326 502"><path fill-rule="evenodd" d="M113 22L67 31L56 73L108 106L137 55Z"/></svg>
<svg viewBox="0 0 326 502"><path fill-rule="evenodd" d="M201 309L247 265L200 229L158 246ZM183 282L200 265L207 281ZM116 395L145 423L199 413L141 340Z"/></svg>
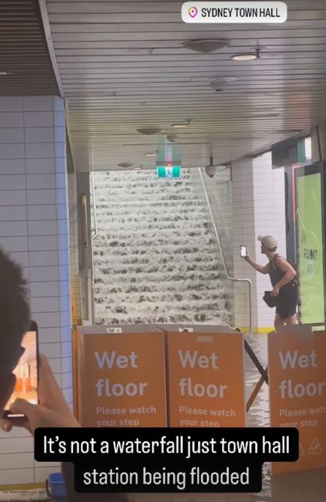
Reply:
<svg viewBox="0 0 326 502"><path fill-rule="evenodd" d="M274 311L262 300L270 290L269 277L255 272L240 258L244 244L251 258L265 264L258 235L274 235L279 254L286 257L284 170L271 167L271 154L256 159L240 159L232 165L233 244L235 277L248 278L253 284L253 326L272 328ZM235 317L239 327L249 325L249 300L246 285L235 285Z"/></svg>

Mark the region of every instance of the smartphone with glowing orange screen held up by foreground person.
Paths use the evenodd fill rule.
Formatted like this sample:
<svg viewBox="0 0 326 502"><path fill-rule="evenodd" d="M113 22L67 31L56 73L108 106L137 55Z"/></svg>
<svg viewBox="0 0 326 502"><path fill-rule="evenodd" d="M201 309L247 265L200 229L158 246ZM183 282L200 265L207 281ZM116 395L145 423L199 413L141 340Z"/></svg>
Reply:
<svg viewBox="0 0 326 502"><path fill-rule="evenodd" d="M10 419L23 418L24 415L17 415L10 412L10 407L21 398L32 404L38 404L39 388L39 336L38 326L32 321L29 331L27 331L22 340L24 352L14 369L16 375L16 385L14 392L5 406L4 417Z"/></svg>

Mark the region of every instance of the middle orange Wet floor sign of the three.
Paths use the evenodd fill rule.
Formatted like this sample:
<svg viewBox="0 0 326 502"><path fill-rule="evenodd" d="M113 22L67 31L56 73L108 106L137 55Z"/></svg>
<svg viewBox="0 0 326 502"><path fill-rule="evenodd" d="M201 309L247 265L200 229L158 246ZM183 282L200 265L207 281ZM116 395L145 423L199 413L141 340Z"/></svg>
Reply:
<svg viewBox="0 0 326 502"><path fill-rule="evenodd" d="M243 335L167 336L170 427L244 427Z"/></svg>

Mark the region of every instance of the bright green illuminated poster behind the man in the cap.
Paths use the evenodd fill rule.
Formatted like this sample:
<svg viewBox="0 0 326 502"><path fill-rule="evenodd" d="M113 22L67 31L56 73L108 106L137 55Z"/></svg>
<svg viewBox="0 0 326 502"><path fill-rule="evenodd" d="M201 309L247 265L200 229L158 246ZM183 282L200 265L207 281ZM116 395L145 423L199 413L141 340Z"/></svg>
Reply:
<svg viewBox="0 0 326 502"><path fill-rule="evenodd" d="M324 322L324 264L320 173L298 176L296 228L302 324Z"/></svg>

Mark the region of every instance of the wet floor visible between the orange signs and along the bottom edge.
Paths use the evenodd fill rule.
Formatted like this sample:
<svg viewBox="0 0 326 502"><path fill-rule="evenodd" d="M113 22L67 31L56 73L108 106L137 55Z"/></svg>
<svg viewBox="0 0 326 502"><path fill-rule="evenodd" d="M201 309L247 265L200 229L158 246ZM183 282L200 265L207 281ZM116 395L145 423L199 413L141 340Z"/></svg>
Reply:
<svg viewBox="0 0 326 502"><path fill-rule="evenodd" d="M247 341L254 350L263 367L267 366L267 336L252 335ZM246 354L246 396L250 396L259 380L259 373ZM264 384L254 401L248 415L248 427L267 427L268 387ZM7 498L6 498L7 496ZM26 502L45 500L45 492L4 493L0 501ZM130 495L131 502L324 502L326 500L326 469L298 474L270 477L270 467L263 465L263 489L259 494L137 494ZM94 496L96 502L96 495Z"/></svg>

